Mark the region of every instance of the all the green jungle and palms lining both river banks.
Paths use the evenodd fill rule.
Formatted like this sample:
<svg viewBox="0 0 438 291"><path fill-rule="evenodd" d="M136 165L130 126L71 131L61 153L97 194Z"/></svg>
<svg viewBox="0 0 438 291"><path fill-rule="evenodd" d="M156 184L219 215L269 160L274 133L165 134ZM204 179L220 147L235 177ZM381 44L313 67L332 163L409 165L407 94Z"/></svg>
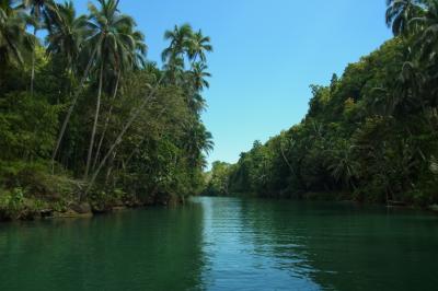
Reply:
<svg viewBox="0 0 438 291"><path fill-rule="evenodd" d="M207 174L210 38L175 25L159 68L118 4L0 2L0 220L200 191L437 208L437 0L388 1L393 39L312 85L302 123Z"/></svg>

